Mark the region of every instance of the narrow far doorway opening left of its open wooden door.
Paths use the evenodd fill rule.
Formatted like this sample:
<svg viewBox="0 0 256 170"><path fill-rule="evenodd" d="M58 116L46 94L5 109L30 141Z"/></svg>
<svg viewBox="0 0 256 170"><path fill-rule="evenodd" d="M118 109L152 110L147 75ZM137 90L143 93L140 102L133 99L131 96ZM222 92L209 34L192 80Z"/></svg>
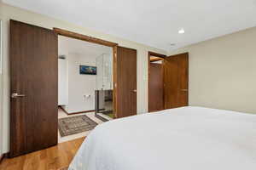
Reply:
<svg viewBox="0 0 256 170"><path fill-rule="evenodd" d="M148 52L148 112L164 110L164 59L166 55Z"/></svg>

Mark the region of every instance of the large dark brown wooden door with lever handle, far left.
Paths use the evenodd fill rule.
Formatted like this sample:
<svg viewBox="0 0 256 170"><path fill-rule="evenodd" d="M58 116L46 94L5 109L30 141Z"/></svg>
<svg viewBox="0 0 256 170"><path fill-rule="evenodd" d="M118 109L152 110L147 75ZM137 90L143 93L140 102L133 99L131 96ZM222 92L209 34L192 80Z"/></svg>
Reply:
<svg viewBox="0 0 256 170"><path fill-rule="evenodd" d="M10 65L13 157L57 144L57 35L10 20Z"/></svg>

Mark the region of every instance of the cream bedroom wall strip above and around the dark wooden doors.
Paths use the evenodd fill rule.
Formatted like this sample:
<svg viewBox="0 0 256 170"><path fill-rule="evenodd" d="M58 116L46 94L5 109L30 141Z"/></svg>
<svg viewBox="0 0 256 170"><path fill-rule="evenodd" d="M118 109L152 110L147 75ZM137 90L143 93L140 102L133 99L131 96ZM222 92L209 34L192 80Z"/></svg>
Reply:
<svg viewBox="0 0 256 170"><path fill-rule="evenodd" d="M111 42L117 42L120 46L137 49L137 113L148 111L148 51L166 54L166 51L150 48L137 42L127 41L101 32L92 31L82 26L76 26L66 21L55 20L42 14L35 14L24 9L3 4L1 9L4 20L4 44L3 44L3 152L9 151L9 20L20 20L32 25L52 29L59 27L69 31L79 32L91 37L98 37ZM118 23L117 23L118 24Z"/></svg>

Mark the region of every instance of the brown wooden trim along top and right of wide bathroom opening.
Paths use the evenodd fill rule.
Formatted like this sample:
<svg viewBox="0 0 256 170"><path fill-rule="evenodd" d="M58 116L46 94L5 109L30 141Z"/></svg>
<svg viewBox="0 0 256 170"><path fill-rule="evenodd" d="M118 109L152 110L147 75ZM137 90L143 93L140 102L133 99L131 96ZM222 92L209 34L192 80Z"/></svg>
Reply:
<svg viewBox="0 0 256 170"><path fill-rule="evenodd" d="M90 37L90 36L79 34L79 33L73 32L73 31L63 30L61 28L56 28L56 27L53 28L53 31L55 31L58 35L61 35L61 36L71 37L71 38L79 39L79 40L82 40L85 42L97 43L100 45L104 45L104 46L113 48L113 51L112 51L112 54L113 54L113 116L114 116L114 118L116 118L117 117L117 115L116 115L116 111L117 111L117 100L116 100L116 96L117 96L117 90L116 90L117 62L116 62L116 58L117 58L117 47L119 44L116 42L109 42L106 40L102 40L100 38Z"/></svg>

